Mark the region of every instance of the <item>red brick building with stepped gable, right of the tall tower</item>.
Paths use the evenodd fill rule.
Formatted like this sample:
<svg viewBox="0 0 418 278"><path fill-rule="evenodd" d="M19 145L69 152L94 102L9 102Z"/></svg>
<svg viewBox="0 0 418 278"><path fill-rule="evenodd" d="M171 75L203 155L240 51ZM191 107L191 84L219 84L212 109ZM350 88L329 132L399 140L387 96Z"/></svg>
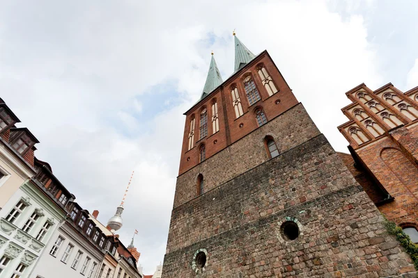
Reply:
<svg viewBox="0 0 418 278"><path fill-rule="evenodd" d="M360 84L346 95L349 121L338 129L351 155L341 156L379 210L418 243L418 87L373 92Z"/></svg>

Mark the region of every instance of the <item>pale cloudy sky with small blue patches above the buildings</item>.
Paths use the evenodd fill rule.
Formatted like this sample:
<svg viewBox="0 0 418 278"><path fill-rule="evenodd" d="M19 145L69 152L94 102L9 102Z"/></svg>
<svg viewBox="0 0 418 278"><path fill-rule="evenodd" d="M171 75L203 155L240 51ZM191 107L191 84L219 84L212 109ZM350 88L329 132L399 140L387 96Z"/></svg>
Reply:
<svg viewBox="0 0 418 278"><path fill-rule="evenodd" d="M145 274L164 259L185 116L210 51L224 80L233 36L267 49L336 151L344 94L418 85L418 1L0 0L0 97L40 140L77 202L104 224L125 201L124 243Z"/></svg>

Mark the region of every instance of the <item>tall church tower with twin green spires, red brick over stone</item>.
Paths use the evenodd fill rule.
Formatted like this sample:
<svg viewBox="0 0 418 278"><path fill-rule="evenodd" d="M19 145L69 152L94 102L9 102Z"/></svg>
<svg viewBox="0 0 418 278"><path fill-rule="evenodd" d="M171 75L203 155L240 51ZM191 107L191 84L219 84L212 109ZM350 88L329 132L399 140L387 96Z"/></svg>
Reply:
<svg viewBox="0 0 418 278"><path fill-rule="evenodd" d="M268 51L234 40L185 113L162 277L415 277Z"/></svg>

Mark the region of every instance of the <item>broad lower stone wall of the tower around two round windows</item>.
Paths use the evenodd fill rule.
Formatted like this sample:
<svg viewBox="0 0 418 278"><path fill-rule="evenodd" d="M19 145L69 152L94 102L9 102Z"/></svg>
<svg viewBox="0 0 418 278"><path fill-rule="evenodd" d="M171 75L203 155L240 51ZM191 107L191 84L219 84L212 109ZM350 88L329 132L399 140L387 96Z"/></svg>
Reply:
<svg viewBox="0 0 418 278"><path fill-rule="evenodd" d="M286 219L296 240L281 235ZM415 277L402 251L319 135L175 208L162 277Z"/></svg>

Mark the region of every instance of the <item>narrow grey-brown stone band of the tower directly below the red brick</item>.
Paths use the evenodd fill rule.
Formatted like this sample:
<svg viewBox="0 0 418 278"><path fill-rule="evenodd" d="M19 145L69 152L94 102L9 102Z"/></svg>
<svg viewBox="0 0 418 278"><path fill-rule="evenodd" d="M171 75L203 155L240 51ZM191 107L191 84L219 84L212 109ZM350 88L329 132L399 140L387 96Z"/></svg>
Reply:
<svg viewBox="0 0 418 278"><path fill-rule="evenodd" d="M173 207L176 208L198 196L196 182L199 174L203 174L207 192L268 161L270 158L263 140L265 136L272 136L279 152L283 153L319 134L320 131L302 104L297 104L222 152L180 175L177 178Z"/></svg>

